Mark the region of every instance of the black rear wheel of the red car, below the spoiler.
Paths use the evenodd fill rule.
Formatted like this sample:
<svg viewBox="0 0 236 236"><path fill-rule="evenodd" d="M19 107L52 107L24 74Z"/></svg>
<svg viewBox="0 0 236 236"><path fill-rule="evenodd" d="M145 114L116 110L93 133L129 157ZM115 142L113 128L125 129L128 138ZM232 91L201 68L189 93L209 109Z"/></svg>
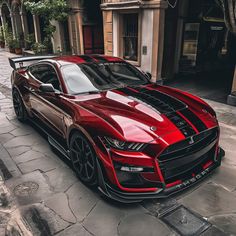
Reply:
<svg viewBox="0 0 236 236"><path fill-rule="evenodd" d="M25 109L25 105L22 101L22 98L20 96L20 93L16 89L13 89L12 99L17 119L20 122L25 122L28 119L28 114Z"/></svg>

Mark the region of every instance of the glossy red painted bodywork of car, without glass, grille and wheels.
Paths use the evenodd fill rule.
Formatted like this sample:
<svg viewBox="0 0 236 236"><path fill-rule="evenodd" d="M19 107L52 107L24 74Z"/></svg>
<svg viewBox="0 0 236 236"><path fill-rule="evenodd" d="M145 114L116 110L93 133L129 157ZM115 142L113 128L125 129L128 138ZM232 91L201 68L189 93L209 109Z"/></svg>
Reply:
<svg viewBox="0 0 236 236"><path fill-rule="evenodd" d="M184 135L177 123L169 118L169 114L161 113L154 109L153 105L136 99L134 95L141 94L136 88L130 88L130 92L134 93L132 96L121 90L104 91L98 94L68 94L60 67L68 63L87 63L88 60L90 63L122 62L122 59L108 56L63 56L39 62L55 68L62 87L60 94L43 94L39 91L41 82L27 70L14 71L13 89L20 92L29 116L32 119L37 117L43 125L49 127L51 133L58 138L65 149L69 148L70 137L74 131L83 133L97 154L106 184L113 186L114 189L124 193L147 193L164 190L164 186L171 188L182 183L184 179L178 179L181 176L177 179L174 177L170 180L166 179L160 157L167 148L203 131L200 131L181 109L176 109L175 112L181 117L182 122L186 122L186 125L195 132L194 135ZM199 119L197 122L201 123L205 130L218 127L213 109L200 98L151 83L140 87L150 92L164 94L170 99L177 100L178 103L185 104L184 109L188 109L196 116ZM140 151L121 151L107 148L103 137L112 137L124 142L144 143L146 146ZM218 150L219 135L215 140L215 149ZM174 155L171 158L174 159ZM116 162L121 166L152 168L153 173L136 173L144 184L140 184L140 187L137 187L137 184L128 187L119 179L120 170L116 169L114 164ZM203 164L203 169L206 169L213 162L214 157L199 165Z"/></svg>

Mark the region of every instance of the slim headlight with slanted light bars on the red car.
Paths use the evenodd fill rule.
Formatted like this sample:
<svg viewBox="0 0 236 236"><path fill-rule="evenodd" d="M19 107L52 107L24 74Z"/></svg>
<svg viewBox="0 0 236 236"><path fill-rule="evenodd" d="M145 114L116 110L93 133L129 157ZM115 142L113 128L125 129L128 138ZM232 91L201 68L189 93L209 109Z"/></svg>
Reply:
<svg viewBox="0 0 236 236"><path fill-rule="evenodd" d="M141 151L145 143L134 143L134 142L124 142L110 137L104 137L103 139L107 148L115 148L124 151Z"/></svg>

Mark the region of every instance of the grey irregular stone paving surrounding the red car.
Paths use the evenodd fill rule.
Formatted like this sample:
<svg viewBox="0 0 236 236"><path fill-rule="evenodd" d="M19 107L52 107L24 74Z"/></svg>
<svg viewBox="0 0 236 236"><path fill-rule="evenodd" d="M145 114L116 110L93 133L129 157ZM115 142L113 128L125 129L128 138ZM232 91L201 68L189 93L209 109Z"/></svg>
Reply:
<svg viewBox="0 0 236 236"><path fill-rule="evenodd" d="M85 187L39 131L16 120L9 55L0 51L0 235L173 236L179 231L161 216L181 206L207 225L201 235L236 235L235 107L208 101L217 111L226 151L212 176L171 199L119 204ZM182 228L194 229L185 213L178 214Z"/></svg>

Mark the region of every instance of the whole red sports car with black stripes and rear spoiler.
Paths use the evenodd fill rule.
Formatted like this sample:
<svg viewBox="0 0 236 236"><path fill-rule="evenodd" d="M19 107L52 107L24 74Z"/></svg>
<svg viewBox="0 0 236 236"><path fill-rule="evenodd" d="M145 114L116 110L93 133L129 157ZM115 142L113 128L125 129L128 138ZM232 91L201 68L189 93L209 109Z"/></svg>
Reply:
<svg viewBox="0 0 236 236"><path fill-rule="evenodd" d="M120 58L9 61L17 118L40 126L79 179L112 199L167 197L221 163L213 109L191 94L151 83L149 74Z"/></svg>

